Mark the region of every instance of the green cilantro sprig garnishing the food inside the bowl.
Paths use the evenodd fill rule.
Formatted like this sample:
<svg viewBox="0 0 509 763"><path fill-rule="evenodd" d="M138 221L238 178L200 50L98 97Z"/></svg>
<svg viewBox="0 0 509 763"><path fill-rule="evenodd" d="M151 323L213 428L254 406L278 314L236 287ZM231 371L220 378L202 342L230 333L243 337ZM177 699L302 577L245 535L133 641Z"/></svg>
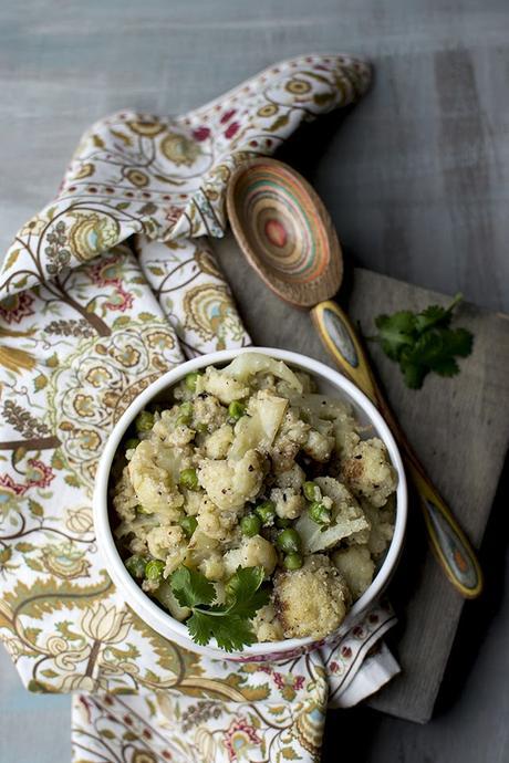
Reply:
<svg viewBox="0 0 509 763"><path fill-rule="evenodd" d="M186 621L196 644L206 646L215 638L225 651L241 650L256 641L250 620L269 602L263 567L239 567L227 585L226 604L214 604L216 588L205 575L185 565L170 577L172 590L183 607L191 609Z"/></svg>

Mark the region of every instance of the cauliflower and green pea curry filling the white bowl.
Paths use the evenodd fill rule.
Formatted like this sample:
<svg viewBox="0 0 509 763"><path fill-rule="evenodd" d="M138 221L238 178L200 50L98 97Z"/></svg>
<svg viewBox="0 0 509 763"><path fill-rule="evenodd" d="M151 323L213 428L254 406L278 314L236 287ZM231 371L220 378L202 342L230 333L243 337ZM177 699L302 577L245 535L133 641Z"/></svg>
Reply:
<svg viewBox="0 0 509 763"><path fill-rule="evenodd" d="M396 471L345 403L267 355L188 374L142 411L112 471L125 565L169 614L183 565L228 600L261 569L253 640L322 638L370 586L394 530Z"/></svg>

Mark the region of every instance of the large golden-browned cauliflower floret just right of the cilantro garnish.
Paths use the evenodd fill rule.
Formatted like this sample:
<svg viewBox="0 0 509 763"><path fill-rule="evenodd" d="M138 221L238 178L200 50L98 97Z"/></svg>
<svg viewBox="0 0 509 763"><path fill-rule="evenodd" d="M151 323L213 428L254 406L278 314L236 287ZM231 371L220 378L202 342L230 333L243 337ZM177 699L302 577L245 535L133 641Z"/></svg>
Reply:
<svg viewBox="0 0 509 763"><path fill-rule="evenodd" d="M323 638L343 621L350 592L329 557L315 554L300 569L276 575L274 606L285 638Z"/></svg>

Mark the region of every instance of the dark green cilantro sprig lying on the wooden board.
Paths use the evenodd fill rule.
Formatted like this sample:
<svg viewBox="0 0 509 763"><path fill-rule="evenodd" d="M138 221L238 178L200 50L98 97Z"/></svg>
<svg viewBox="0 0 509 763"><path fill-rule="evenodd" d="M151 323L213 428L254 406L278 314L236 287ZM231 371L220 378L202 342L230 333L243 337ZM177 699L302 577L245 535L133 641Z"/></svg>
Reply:
<svg viewBox="0 0 509 763"><path fill-rule="evenodd" d="M470 355L474 336L466 328L450 328L453 311L461 300L463 295L456 294L448 307L429 305L420 313L403 310L375 318L378 334L371 338L399 364L411 389L419 389L430 372L456 376L456 358Z"/></svg>

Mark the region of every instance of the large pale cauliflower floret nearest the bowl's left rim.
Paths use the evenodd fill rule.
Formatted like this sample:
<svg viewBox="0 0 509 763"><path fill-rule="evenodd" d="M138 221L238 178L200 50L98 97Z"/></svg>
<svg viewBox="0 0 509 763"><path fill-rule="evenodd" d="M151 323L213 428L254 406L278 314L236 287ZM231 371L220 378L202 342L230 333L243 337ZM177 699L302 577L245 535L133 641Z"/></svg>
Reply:
<svg viewBox="0 0 509 763"><path fill-rule="evenodd" d="M164 450L160 446L156 448L149 440L141 442L128 463L129 478L138 503L145 511L177 520L184 497L160 463Z"/></svg>

